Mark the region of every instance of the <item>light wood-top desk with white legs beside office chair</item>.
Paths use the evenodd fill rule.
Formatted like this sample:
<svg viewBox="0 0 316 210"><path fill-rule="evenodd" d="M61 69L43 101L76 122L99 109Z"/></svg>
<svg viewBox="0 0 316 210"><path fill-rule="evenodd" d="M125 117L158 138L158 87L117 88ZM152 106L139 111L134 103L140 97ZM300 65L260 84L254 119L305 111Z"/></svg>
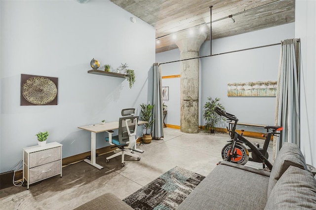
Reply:
<svg viewBox="0 0 316 210"><path fill-rule="evenodd" d="M146 121L138 121L137 124L138 125L143 125L147 123ZM101 132L105 132L105 131L110 131L110 130L116 130L118 129L118 121L115 122L107 122L105 124L92 124L92 125L83 125L83 126L79 126L78 128L86 130L86 131L90 131L91 132L91 160L89 159L84 159L84 162L87 162L88 164L98 168L98 169L103 169L102 166L98 165L95 163L95 159L96 159L96 143L95 143L95 139L96 139L96 133L101 133ZM134 146L134 150L137 150L139 152L143 152L142 150L138 150L136 149L136 144Z"/></svg>

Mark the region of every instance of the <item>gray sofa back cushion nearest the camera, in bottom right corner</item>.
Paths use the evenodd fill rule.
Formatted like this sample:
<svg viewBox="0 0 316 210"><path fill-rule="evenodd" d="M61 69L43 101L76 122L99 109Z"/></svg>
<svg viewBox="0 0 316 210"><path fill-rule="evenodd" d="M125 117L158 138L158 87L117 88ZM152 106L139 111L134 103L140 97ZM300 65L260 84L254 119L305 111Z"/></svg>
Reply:
<svg viewBox="0 0 316 210"><path fill-rule="evenodd" d="M316 180L311 172L290 166L276 182L265 210L316 209Z"/></svg>

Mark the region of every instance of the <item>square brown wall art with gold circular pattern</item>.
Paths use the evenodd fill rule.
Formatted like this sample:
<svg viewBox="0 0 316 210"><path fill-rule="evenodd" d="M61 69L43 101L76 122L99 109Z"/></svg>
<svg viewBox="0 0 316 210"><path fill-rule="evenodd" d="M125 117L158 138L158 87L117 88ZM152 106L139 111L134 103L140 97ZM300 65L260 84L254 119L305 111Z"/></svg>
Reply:
<svg viewBox="0 0 316 210"><path fill-rule="evenodd" d="M21 74L20 90L20 105L57 105L57 77Z"/></svg>

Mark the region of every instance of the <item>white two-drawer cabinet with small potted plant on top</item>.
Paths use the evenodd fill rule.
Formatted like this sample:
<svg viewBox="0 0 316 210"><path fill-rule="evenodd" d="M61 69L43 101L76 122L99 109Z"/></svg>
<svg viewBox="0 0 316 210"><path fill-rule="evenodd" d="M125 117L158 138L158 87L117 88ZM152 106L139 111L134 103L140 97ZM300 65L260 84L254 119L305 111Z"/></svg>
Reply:
<svg viewBox="0 0 316 210"><path fill-rule="evenodd" d="M23 182L30 184L52 177L62 176L62 144L46 143L44 146L23 148Z"/></svg>

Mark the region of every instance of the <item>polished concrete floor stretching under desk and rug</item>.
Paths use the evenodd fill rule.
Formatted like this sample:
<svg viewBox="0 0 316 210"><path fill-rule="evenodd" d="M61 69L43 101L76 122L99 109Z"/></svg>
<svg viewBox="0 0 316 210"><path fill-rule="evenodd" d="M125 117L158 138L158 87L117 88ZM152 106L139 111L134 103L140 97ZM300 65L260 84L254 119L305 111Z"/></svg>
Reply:
<svg viewBox="0 0 316 210"><path fill-rule="evenodd" d="M175 166L191 170L200 175L208 175L219 161L221 151L230 137L228 134L185 134L179 130L165 128L163 140L153 140L150 144L140 144L144 153L137 153L141 160L125 156L125 167L120 165L120 157L105 163L100 155L97 163L104 167L98 170L81 161L63 168L63 176L56 175L26 187L9 187L0 190L0 209L6 210L70 210L104 193L112 192L124 199L144 185ZM263 140L251 139L262 142ZM272 142L269 154L272 157ZM269 158L271 159L271 158ZM246 165L260 168L260 163Z"/></svg>

